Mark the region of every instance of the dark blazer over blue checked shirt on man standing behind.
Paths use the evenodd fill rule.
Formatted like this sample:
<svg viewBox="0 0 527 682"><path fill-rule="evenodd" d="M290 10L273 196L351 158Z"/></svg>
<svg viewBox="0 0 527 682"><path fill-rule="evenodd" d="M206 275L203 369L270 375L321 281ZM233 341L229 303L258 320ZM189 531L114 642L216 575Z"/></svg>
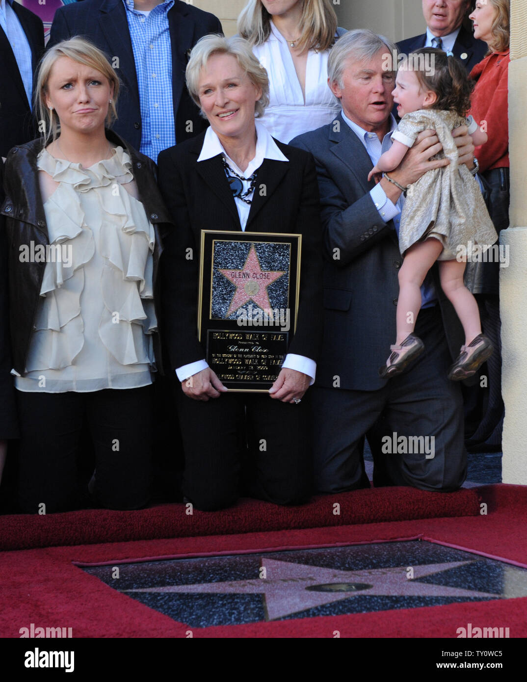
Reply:
<svg viewBox="0 0 527 682"><path fill-rule="evenodd" d="M185 87L187 53L207 33L222 33L220 20L192 4L175 0L168 12L170 46L172 48L172 102L177 143L198 134L207 127ZM103 50L119 67L115 72L123 85L117 102L119 118L113 130L132 147L141 142L141 110L136 63L123 0L84 0L64 5L55 12L48 48L74 35L83 35ZM188 124L192 121L192 126Z"/></svg>

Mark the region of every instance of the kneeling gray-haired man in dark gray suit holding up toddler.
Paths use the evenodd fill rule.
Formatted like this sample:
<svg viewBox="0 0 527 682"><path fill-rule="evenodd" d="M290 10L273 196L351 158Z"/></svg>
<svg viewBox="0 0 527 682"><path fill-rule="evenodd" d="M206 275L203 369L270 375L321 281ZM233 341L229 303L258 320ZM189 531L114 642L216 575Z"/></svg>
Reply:
<svg viewBox="0 0 527 682"><path fill-rule="evenodd" d="M313 389L316 490L367 486L362 445L367 434L374 483L423 490L459 488L466 477L460 386L447 379L463 342L457 316L438 284L437 266L421 287L415 333L425 352L404 374L381 379L395 341L397 242L404 196L399 186L448 164L422 132L400 166L377 185L367 176L391 145L394 46L372 31L349 31L332 48L328 82L342 112L291 141L315 158L325 241L324 341ZM460 162L472 167L466 127L454 131Z"/></svg>

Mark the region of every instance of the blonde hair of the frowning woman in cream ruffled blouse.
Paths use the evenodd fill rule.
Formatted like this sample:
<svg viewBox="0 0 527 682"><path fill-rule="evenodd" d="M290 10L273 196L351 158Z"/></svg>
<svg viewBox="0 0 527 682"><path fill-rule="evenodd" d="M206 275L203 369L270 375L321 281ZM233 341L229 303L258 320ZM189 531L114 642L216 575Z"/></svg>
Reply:
<svg viewBox="0 0 527 682"><path fill-rule="evenodd" d="M48 80L53 68L53 65L61 57L69 57L78 64L85 64L91 68L99 71L108 79L108 83L113 85L112 102L108 106L108 114L106 115L106 125L108 127L117 119L117 110L115 105L119 95L119 78L106 55L97 48L93 43L85 38L80 38L76 35L69 40L63 40L50 48L42 57L37 74L37 83L35 87L35 109L38 113L40 121L44 121L44 146L48 145L50 140L55 140L60 132L60 121L55 109L49 109L46 105L46 95L48 94Z"/></svg>

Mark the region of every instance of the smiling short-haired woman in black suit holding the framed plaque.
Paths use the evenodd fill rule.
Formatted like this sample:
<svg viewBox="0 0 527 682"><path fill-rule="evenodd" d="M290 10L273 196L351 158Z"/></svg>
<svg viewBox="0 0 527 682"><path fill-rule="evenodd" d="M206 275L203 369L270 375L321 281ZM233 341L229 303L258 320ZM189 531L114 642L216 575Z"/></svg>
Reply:
<svg viewBox="0 0 527 682"><path fill-rule="evenodd" d="M314 160L273 140L255 121L269 101L269 82L245 40L205 36L192 50L186 76L210 128L159 157L160 187L177 226L163 256L162 302L182 389L183 494L204 510L227 507L241 492L301 503L312 478L303 396L314 382L322 331ZM236 195L228 178L239 180ZM269 395L229 393L204 359L196 336L198 261L201 231L211 229L302 235L297 329Z"/></svg>

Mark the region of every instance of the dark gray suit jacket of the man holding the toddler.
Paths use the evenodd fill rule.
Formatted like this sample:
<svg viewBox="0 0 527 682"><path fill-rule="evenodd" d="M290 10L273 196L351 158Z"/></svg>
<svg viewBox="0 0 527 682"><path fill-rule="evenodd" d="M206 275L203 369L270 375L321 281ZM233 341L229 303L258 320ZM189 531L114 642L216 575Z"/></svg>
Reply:
<svg viewBox="0 0 527 682"><path fill-rule="evenodd" d="M387 381L380 379L378 368L395 341L397 271L402 263L395 226L378 214L370 196L374 181L367 181L373 167L370 156L341 114L290 144L314 155L320 190L324 340L317 385L374 391ZM462 327L442 293L437 265L432 270L455 358L464 342Z"/></svg>

